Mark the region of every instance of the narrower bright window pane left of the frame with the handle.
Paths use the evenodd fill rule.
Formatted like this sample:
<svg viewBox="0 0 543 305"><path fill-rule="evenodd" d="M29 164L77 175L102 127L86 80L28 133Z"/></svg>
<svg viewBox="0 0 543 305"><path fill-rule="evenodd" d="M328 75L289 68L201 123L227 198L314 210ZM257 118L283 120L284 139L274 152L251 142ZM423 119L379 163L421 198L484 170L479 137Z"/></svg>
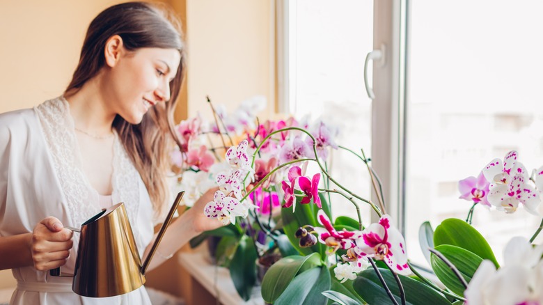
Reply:
<svg viewBox="0 0 543 305"><path fill-rule="evenodd" d="M310 114L340 129L336 143L359 153L371 151L371 101L365 94L363 66L372 49L373 1L289 1L290 111ZM334 150L333 177L364 198L370 197L363 162ZM356 218L352 203L332 196L334 217ZM363 203L363 219L370 210Z"/></svg>

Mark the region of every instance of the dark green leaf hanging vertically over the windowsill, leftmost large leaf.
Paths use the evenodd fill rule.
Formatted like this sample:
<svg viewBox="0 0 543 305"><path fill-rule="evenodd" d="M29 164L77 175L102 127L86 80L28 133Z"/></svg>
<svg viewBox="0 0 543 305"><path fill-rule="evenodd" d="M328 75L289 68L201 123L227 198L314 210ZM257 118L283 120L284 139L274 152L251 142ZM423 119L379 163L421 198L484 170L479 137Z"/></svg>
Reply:
<svg viewBox="0 0 543 305"><path fill-rule="evenodd" d="M256 249L253 240L244 235L239 240L230 268L230 277L237 293L244 300L251 299L251 290L256 283Z"/></svg>

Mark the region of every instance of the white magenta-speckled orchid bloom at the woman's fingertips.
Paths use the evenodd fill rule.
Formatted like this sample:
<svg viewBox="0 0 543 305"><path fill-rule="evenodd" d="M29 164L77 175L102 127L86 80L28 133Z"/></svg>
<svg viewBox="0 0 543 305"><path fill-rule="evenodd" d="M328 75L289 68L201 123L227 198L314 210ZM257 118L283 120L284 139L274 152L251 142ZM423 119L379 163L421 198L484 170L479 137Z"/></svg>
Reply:
<svg viewBox="0 0 543 305"><path fill-rule="evenodd" d="M244 209L236 198L227 197L222 191L216 191L213 201L205 205L204 214L219 219L223 224L235 224L237 216L244 216Z"/></svg>

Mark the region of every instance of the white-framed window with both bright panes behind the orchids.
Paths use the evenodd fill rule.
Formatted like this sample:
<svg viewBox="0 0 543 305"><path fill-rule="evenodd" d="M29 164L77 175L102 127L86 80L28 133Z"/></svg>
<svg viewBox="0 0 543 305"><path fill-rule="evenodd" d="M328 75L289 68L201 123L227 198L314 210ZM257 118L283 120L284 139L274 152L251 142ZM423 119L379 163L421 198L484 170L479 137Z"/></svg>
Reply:
<svg viewBox="0 0 543 305"><path fill-rule="evenodd" d="M371 150L387 212L415 263L426 265L420 224L465 219L471 208L458 198L459 180L509 150L519 151L528 170L543 165L543 42L537 39L543 3L285 2L285 109L340 118L347 137L338 142ZM370 66L375 100L369 100L363 59L382 45L385 64ZM333 162L352 175L351 161ZM367 175L356 176L367 196ZM473 217L498 260L510 237L530 237L539 223L522 208L505 214L477 207Z"/></svg>

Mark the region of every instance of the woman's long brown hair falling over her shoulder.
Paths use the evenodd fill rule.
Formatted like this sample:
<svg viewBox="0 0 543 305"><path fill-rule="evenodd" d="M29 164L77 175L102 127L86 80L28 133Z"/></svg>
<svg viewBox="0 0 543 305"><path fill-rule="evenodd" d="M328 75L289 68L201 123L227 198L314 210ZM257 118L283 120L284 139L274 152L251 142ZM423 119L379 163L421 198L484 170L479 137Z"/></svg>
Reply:
<svg viewBox="0 0 543 305"><path fill-rule="evenodd" d="M113 120L113 128L139 171L155 212L160 213L169 195L166 180L168 148L172 139L180 145L173 130L173 111L185 67L180 22L165 7L145 2L120 3L102 11L88 26L79 64L66 92L77 91L86 81L97 75L105 63L106 42L114 35L123 39L123 44L129 51L142 47L159 47L178 49L181 54L177 74L170 82L169 101L152 107L138 125L128 123L119 115Z"/></svg>

